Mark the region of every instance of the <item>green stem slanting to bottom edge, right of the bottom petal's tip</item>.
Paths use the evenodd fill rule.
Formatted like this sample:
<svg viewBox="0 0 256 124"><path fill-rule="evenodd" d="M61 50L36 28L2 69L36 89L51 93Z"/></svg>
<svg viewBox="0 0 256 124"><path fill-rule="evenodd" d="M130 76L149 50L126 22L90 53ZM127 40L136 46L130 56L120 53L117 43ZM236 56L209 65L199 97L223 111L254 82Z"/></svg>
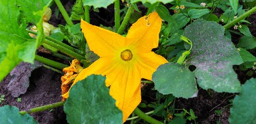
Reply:
<svg viewBox="0 0 256 124"><path fill-rule="evenodd" d="M146 115L144 112L142 112L141 110L139 110L138 107L135 108L135 110L133 111L136 115L138 115L140 118L146 120L149 123L154 123L154 124L163 124L162 122L151 118L150 116Z"/></svg>

